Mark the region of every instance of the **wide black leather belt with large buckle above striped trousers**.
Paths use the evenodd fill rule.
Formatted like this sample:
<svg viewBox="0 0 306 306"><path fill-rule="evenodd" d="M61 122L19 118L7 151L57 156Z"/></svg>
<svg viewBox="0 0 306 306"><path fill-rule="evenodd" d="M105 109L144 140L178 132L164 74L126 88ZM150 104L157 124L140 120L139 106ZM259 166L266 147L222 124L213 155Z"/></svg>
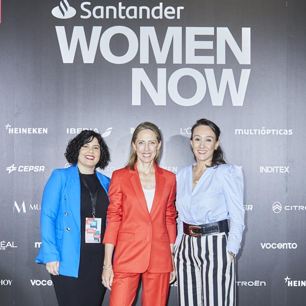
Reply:
<svg viewBox="0 0 306 306"><path fill-rule="evenodd" d="M189 236L208 236L220 232L229 232L228 220L222 220L213 223L191 225L183 222L184 234Z"/></svg>

